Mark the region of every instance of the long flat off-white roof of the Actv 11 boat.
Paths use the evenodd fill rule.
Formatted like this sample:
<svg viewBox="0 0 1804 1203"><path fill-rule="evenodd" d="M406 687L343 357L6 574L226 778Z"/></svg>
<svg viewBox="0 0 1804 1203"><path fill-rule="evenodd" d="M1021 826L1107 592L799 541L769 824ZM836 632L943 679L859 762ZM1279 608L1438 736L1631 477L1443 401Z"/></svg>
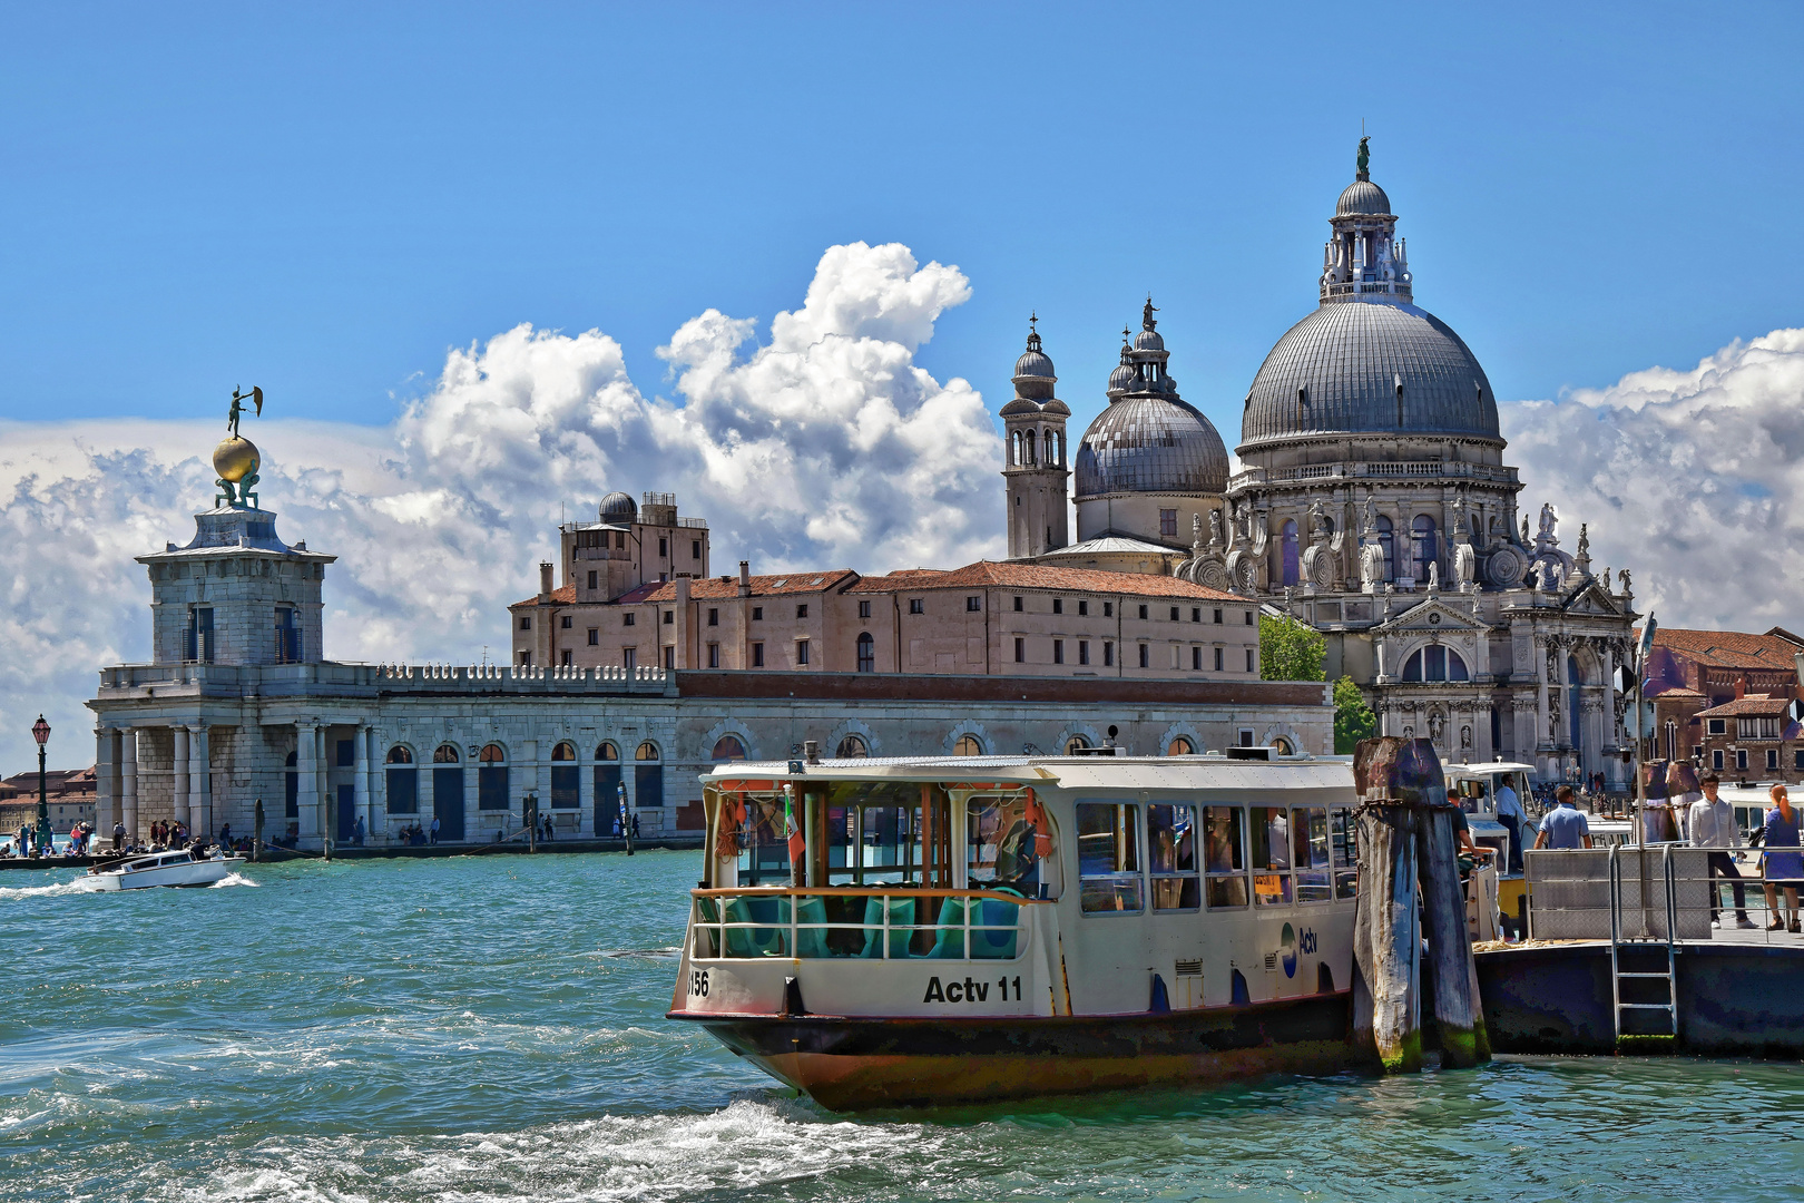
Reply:
<svg viewBox="0 0 1804 1203"><path fill-rule="evenodd" d="M1063 790L1351 790L1348 756L893 756L859 759L725 761L704 776L727 781L987 781Z"/></svg>

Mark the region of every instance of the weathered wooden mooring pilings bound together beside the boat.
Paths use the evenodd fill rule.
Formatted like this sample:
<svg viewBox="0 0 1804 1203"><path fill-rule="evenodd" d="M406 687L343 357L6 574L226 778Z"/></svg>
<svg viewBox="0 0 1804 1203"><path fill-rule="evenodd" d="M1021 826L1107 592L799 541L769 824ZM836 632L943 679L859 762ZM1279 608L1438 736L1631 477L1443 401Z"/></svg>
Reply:
<svg viewBox="0 0 1804 1203"><path fill-rule="evenodd" d="M1353 1042L1385 1073L1422 1068L1422 974L1432 979L1441 1064L1490 1061L1459 887L1454 808L1427 739L1362 739L1353 752L1358 900ZM1423 950L1423 938L1427 949Z"/></svg>

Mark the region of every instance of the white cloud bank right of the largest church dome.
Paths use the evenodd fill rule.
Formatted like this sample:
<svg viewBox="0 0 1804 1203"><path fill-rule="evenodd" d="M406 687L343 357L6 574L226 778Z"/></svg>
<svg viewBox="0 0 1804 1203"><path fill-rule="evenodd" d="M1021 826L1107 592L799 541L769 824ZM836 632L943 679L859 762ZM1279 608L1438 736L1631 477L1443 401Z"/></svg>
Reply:
<svg viewBox="0 0 1804 1203"><path fill-rule="evenodd" d="M1528 489L1593 572L1634 570L1663 626L1799 629L1804 601L1804 330L1735 341L1690 370L1649 368L1559 402L1505 406Z"/></svg>

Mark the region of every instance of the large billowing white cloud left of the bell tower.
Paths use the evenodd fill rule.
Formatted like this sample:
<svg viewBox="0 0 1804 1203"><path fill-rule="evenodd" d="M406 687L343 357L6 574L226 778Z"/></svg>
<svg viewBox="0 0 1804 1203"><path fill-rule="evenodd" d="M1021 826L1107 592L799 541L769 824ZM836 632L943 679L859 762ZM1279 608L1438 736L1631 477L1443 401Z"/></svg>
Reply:
<svg viewBox="0 0 1804 1203"><path fill-rule="evenodd" d="M953 566L1001 554L1001 440L981 395L915 364L971 296L907 247L832 247L794 312L707 310L658 355L673 395L630 377L621 344L521 325L456 348L388 427L251 420L278 530L336 554L327 655L473 660L505 649L505 604L538 588L559 503L676 492L709 519L714 568ZM283 399L272 399L280 413ZM0 424L0 767L25 767L45 711L60 765L92 758L103 664L150 651L132 561L193 534L211 505L200 422Z"/></svg>

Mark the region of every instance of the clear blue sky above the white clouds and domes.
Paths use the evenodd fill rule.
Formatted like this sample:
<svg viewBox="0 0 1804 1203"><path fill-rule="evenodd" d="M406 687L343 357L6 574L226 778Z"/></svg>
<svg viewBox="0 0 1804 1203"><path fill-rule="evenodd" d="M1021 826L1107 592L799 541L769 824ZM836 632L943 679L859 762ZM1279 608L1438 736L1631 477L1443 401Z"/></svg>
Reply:
<svg viewBox="0 0 1804 1203"><path fill-rule="evenodd" d="M521 321L653 348L904 242L994 409L1153 290L1232 445L1360 121L1505 399L1804 325L1799 5L36 5L0 14L0 418L390 420Z"/></svg>

